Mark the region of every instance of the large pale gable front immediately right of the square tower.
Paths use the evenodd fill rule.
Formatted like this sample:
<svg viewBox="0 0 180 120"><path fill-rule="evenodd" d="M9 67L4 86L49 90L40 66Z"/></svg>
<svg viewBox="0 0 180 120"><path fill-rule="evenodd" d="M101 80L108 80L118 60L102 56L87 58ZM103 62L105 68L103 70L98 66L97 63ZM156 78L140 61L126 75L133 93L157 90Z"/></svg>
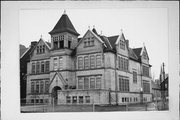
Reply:
<svg viewBox="0 0 180 120"><path fill-rule="evenodd" d="M79 41L76 50L77 53L102 52L103 46L106 47L99 35L89 29Z"/></svg>

